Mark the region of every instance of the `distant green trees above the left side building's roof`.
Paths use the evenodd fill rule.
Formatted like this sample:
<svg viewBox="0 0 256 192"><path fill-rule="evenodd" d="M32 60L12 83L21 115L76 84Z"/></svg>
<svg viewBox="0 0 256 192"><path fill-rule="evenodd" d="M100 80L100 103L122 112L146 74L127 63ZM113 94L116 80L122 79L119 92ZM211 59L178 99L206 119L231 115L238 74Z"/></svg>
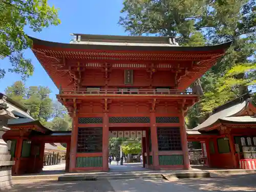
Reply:
<svg viewBox="0 0 256 192"><path fill-rule="evenodd" d="M44 126L55 131L71 130L71 118L65 107L52 102L49 98L50 89L42 86L25 87L22 81L16 81L6 88L6 95L23 104L31 117L39 120ZM51 118L52 121L49 121Z"/></svg>

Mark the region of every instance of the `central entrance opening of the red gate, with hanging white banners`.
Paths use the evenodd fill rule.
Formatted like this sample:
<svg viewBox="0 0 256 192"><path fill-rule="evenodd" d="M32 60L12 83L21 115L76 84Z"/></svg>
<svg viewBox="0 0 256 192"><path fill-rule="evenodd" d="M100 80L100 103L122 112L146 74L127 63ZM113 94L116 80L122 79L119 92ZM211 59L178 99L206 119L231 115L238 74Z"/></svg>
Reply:
<svg viewBox="0 0 256 192"><path fill-rule="evenodd" d="M110 128L109 170L111 172L145 171L146 128ZM143 147L144 146L144 147Z"/></svg>

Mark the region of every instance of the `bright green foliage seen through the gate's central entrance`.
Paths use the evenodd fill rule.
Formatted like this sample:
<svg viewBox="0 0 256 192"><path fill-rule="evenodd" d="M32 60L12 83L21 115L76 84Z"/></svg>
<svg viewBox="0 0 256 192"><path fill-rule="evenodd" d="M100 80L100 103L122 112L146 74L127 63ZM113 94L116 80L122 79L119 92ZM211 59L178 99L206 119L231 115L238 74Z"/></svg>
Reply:
<svg viewBox="0 0 256 192"><path fill-rule="evenodd" d="M121 145L124 154L140 154L141 153L141 139L124 141Z"/></svg>

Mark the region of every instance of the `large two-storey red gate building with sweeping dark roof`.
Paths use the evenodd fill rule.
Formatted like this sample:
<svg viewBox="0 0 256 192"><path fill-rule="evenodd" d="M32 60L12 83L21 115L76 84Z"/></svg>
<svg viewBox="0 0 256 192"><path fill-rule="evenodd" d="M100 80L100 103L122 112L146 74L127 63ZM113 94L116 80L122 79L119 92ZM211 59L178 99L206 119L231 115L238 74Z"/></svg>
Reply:
<svg viewBox="0 0 256 192"><path fill-rule="evenodd" d="M31 138L65 140L70 172L108 171L109 137L132 133L141 134L144 167L190 168L184 115L199 97L187 88L231 42L179 47L169 37L86 34L74 34L70 44L31 39L73 119L69 136L41 130Z"/></svg>

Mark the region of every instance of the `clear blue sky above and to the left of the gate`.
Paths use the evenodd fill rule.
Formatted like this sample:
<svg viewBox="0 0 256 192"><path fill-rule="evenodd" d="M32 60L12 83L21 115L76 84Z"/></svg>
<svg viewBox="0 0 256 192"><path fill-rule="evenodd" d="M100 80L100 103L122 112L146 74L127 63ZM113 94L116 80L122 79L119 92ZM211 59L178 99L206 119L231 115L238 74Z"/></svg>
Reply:
<svg viewBox="0 0 256 192"><path fill-rule="evenodd" d="M26 33L39 39L69 43L73 38L70 33L102 34L102 35L128 35L124 28L118 26L122 0L49 0L50 5L59 8L61 24L43 29L40 33L26 30ZM34 56L31 50L25 51L25 57L32 59L35 71L25 85L47 86L52 91L50 97L56 99L58 93L54 83ZM8 71L8 59L1 61L1 68ZM7 86L11 86L20 76L7 72L4 79L0 79L0 92L4 93Z"/></svg>

